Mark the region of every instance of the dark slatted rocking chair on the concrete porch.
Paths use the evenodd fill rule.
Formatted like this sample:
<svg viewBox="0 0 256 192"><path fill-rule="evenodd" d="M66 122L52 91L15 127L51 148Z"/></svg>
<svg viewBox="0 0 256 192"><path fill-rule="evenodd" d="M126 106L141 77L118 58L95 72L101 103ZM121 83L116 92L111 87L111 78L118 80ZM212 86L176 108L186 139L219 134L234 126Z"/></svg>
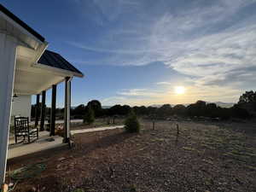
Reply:
<svg viewBox="0 0 256 192"><path fill-rule="evenodd" d="M38 139L38 127L32 127L29 125L28 117L16 117L15 118L15 143L18 143L18 138L23 137L23 143L32 143Z"/></svg>

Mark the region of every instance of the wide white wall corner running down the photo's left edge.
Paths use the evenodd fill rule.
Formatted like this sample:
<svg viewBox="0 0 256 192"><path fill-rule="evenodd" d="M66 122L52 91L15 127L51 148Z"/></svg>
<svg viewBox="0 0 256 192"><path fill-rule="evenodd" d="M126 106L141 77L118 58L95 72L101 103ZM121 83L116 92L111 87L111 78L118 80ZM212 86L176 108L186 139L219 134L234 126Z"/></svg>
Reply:
<svg viewBox="0 0 256 192"><path fill-rule="evenodd" d="M0 32L0 185L4 183L17 40Z"/></svg>

